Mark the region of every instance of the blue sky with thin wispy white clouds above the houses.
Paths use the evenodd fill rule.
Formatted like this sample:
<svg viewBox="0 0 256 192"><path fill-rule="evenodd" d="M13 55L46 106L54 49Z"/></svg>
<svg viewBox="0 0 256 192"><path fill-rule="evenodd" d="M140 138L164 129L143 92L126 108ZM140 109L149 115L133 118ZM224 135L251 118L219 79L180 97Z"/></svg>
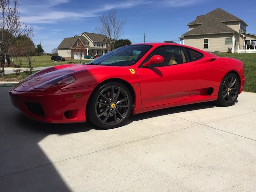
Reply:
<svg viewBox="0 0 256 192"><path fill-rule="evenodd" d="M33 28L33 42L51 53L65 37L96 33L99 16L116 9L126 18L124 34L132 43L174 41L188 31L187 24L216 8L244 20L247 33L256 34L256 0L18 0L20 20Z"/></svg>

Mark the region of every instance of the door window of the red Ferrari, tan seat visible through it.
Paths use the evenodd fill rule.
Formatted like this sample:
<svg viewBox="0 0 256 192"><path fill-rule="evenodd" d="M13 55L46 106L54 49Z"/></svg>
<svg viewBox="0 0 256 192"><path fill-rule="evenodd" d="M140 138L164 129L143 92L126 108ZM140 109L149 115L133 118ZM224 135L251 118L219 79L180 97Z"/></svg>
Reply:
<svg viewBox="0 0 256 192"><path fill-rule="evenodd" d="M149 65L149 68L164 67L188 62L184 48L179 46L158 47L153 52L151 52L151 54L149 54L148 58L144 62L147 62L154 55L161 55L164 58L164 62L160 64Z"/></svg>

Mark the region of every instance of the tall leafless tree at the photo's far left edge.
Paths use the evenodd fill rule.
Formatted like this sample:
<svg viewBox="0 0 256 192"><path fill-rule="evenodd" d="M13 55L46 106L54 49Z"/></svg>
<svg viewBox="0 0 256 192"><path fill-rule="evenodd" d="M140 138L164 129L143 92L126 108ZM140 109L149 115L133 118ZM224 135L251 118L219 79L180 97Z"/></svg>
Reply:
<svg viewBox="0 0 256 192"><path fill-rule="evenodd" d="M33 36L32 28L27 28L25 23L20 22L18 0L13 0L12 4L10 7L10 0L0 0L0 57L3 75L6 54L12 51L12 44L16 37L21 35Z"/></svg>

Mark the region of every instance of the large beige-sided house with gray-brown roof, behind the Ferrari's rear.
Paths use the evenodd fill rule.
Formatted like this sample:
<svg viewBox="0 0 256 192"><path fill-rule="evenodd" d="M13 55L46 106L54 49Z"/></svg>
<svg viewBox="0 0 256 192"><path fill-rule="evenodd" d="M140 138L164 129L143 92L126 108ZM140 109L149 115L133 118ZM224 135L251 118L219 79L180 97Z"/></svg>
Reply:
<svg viewBox="0 0 256 192"><path fill-rule="evenodd" d="M246 33L248 25L238 17L217 8L190 22L180 44L207 52L256 52L256 35Z"/></svg>

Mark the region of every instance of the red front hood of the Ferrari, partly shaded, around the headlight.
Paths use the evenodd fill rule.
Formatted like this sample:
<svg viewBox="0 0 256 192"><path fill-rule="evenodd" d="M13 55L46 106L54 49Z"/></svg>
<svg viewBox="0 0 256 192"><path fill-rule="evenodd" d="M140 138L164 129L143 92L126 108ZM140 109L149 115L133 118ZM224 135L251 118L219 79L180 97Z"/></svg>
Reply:
<svg viewBox="0 0 256 192"><path fill-rule="evenodd" d="M121 68L127 67L74 64L54 66L39 71L36 74L22 80L18 85L14 87L14 90L20 92L45 91L35 89L35 86L66 74L74 76L76 78L76 81L72 84L67 85L66 87L56 87L56 90L99 84L99 77L111 77L116 74L117 70L121 70Z"/></svg>

